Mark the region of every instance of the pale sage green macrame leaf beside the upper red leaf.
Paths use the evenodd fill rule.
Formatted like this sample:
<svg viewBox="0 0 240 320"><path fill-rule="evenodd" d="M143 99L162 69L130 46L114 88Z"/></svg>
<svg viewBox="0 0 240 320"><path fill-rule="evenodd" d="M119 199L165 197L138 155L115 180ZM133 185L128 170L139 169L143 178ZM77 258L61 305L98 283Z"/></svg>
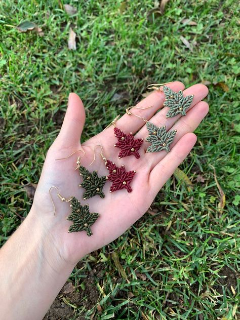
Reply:
<svg viewBox="0 0 240 320"><path fill-rule="evenodd" d="M177 130L167 132L166 126L157 127L150 122L146 124L149 136L145 141L151 142L146 152L170 151L170 144L173 142Z"/></svg>

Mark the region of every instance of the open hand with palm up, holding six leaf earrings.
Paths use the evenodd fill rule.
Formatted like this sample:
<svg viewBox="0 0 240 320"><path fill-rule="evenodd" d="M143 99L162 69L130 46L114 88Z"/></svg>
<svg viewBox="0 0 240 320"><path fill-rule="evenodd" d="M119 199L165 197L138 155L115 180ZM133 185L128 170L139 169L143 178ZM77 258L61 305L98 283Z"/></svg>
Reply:
<svg viewBox="0 0 240 320"><path fill-rule="evenodd" d="M184 90L184 85L180 82L173 82L168 86L176 92ZM133 155L118 159L119 149L114 147L116 138L113 126L81 144L85 110L81 99L74 93L70 94L61 131L47 153L31 210L34 220L41 224L61 259L72 264L77 263L86 254L101 248L123 234L150 207L157 192L194 146L196 136L192 132L209 110L208 104L202 101L208 94L206 86L193 85L184 90L183 94L184 96L194 95L187 115L183 117L177 115L173 118L166 118L169 108L163 107L165 96L161 91L153 91L137 104L138 107L152 106L151 108L132 109L133 113L145 117L159 127L166 125L167 130L177 130L169 153L166 151L145 153L149 143L144 141L139 149L141 156L139 159ZM116 127L126 134L132 132L136 138L145 140L148 136L145 122L134 115L123 115L118 119ZM59 161L56 159L67 157L76 150L84 150L86 155L81 158L81 165L90 172L98 170L99 176L106 176L108 171L100 156L100 147L96 148L95 162L89 166L93 161L93 150L96 145L102 145L105 157L115 162L117 166L124 164L127 171L137 171L131 182L132 192L128 193L126 189L123 189L109 193L111 182L106 181L103 187L105 198L102 199L95 195L83 201L84 189L78 186L82 182L82 177L79 176L78 170L75 171L77 156L83 156L83 153L79 151L67 159ZM93 232L91 237L87 236L85 231L67 232L72 224L66 220L71 212L70 204L61 202L57 196L57 190L52 189L51 195L56 207L54 215L49 195L49 189L52 186L58 187L62 196L66 198L75 196L82 205L89 204L90 212L100 214L91 227Z"/></svg>

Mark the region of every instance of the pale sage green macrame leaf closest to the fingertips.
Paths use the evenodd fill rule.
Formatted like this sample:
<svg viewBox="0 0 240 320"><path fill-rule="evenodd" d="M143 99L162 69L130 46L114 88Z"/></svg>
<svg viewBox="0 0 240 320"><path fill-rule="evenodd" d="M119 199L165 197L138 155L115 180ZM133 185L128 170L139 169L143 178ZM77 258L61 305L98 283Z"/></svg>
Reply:
<svg viewBox="0 0 240 320"><path fill-rule="evenodd" d="M183 97L182 90L174 92L167 86L164 86L163 89L166 98L164 106L170 108L166 114L166 118L172 118L179 113L181 115L186 115L186 110L190 107L194 95Z"/></svg>

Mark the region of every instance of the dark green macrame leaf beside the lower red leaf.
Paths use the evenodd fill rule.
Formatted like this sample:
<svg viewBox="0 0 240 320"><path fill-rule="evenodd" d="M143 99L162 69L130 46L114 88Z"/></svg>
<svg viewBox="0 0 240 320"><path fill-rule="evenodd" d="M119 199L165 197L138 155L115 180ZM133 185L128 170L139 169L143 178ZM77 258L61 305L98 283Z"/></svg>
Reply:
<svg viewBox="0 0 240 320"><path fill-rule="evenodd" d="M79 185L86 189L84 192L84 200L91 198L92 196L98 194L101 198L105 197L105 194L102 192L102 188L106 182L106 177L98 177L98 172L89 172L83 166L79 167L80 175L83 177L83 182Z"/></svg>

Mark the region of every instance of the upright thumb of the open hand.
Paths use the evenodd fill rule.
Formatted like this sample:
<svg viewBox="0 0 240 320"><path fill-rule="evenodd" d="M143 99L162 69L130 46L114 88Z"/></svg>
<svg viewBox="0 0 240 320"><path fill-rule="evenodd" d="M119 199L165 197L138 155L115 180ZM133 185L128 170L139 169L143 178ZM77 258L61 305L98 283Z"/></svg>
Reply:
<svg viewBox="0 0 240 320"><path fill-rule="evenodd" d="M68 97L68 107L63 120L57 143L75 146L80 142L85 124L85 110L82 100L75 93Z"/></svg>

